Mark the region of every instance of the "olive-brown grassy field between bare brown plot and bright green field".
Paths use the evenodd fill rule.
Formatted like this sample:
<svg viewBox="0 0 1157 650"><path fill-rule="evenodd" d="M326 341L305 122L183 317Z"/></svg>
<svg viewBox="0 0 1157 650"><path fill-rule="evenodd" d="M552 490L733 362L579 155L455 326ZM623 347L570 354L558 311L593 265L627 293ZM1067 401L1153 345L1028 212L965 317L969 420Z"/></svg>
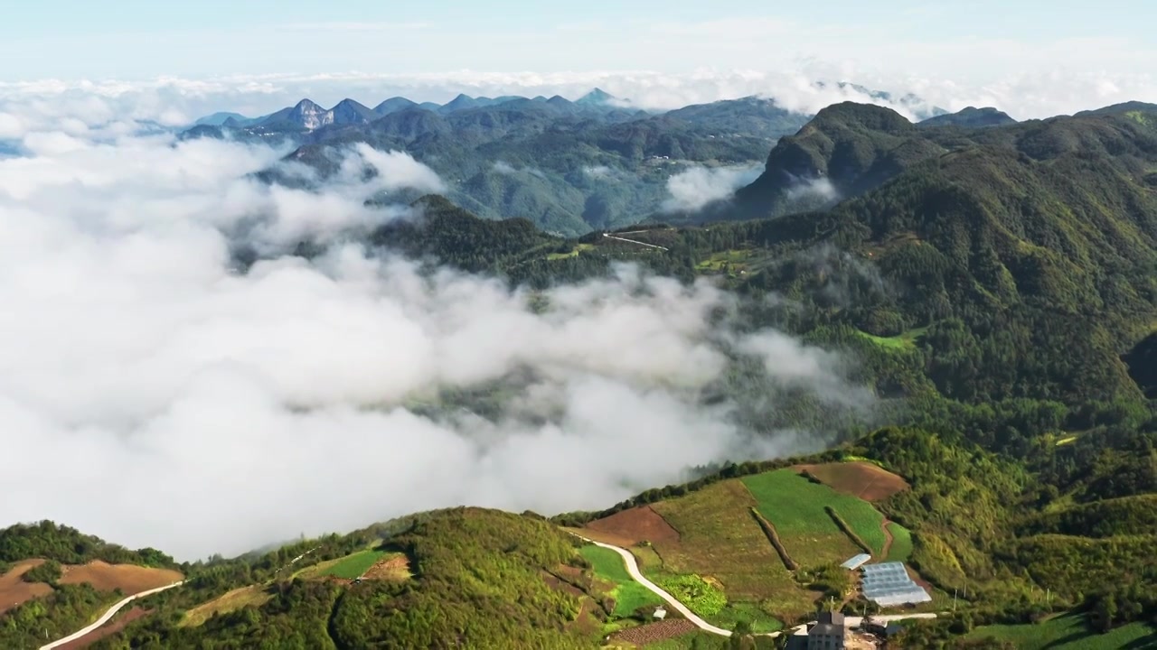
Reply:
<svg viewBox="0 0 1157 650"><path fill-rule="evenodd" d="M721 481L651 507L679 531L678 541L653 542L664 571L718 581L728 598L760 603L780 619L815 610L751 516L756 500L743 483Z"/></svg>

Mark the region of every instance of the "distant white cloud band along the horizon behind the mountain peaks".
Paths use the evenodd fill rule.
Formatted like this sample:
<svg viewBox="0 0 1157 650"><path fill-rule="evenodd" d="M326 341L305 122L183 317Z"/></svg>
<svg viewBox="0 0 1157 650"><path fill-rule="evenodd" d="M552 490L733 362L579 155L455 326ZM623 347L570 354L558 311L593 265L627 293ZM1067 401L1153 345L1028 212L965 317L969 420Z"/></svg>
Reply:
<svg viewBox="0 0 1157 650"><path fill-rule="evenodd" d="M824 81L823 86L817 81ZM891 93L899 99L912 93L923 104L902 105L874 98L853 87ZM996 106L1016 119L1045 118L1127 101L1157 102L1157 77L1143 74L1108 74L1066 69L1033 71L986 80L952 80L944 75L882 76L823 61L796 61L774 72L703 68L675 74L648 71L496 73L460 71L441 74L331 73L314 75L270 74L214 79L164 77L153 81L43 80L0 82L0 141L20 139L35 131L61 131L72 135L116 136L150 121L157 127L187 125L216 111L250 117L273 112L310 97L333 105L353 97L367 105L395 95L411 99L447 102L467 95L560 94L577 98L599 87L629 99L631 106L665 110L687 104L758 95L802 113L816 113L838 102L889 105L906 117L931 106L958 111L965 106Z"/></svg>

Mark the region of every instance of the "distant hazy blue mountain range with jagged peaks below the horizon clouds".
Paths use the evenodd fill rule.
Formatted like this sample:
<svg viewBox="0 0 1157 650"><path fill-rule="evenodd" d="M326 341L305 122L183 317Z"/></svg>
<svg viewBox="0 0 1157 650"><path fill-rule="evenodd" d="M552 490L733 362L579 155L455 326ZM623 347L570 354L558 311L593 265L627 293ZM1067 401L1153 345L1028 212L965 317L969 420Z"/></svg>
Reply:
<svg viewBox="0 0 1157 650"><path fill-rule="evenodd" d="M847 88L907 110L915 96ZM638 222L669 198L672 176L695 168L746 170L776 139L810 118L773 99L743 97L661 113L594 89L572 102L553 97L470 97L445 104L391 97L370 109L342 99L325 109L310 99L259 118L214 113L184 138L289 142L287 156L322 172L341 169L351 145L401 150L430 167L447 195L472 212L521 215L560 235ZM933 115L944 115L941 109ZM283 184L300 178L270 170Z"/></svg>

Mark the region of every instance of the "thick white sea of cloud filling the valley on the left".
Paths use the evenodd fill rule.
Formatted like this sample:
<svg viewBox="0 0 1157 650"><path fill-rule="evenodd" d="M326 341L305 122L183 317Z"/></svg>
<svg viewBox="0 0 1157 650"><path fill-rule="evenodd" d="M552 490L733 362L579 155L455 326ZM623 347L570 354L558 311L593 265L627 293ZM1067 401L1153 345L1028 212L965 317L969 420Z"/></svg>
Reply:
<svg viewBox="0 0 1157 650"><path fill-rule="evenodd" d="M405 154L353 150L309 192L252 178L285 152L96 131L0 160L0 525L192 559L435 507L598 508L823 444L753 437L742 396L703 406L737 357L759 408L776 386L860 406L837 357L734 327L709 283L622 267L532 300L366 250L414 216L368 197L441 187ZM329 250L286 256L302 238ZM238 271L238 246L264 257Z"/></svg>

